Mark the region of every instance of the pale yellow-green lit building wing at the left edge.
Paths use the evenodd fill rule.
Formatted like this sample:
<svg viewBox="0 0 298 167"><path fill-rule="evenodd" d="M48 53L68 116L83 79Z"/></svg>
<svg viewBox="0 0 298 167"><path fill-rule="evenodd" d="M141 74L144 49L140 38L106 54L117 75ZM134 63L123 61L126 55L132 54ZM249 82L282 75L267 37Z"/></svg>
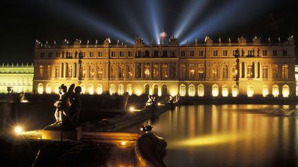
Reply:
<svg viewBox="0 0 298 167"><path fill-rule="evenodd" d="M33 64L0 65L0 93L8 93L8 87L17 93L32 93L33 71Z"/></svg>

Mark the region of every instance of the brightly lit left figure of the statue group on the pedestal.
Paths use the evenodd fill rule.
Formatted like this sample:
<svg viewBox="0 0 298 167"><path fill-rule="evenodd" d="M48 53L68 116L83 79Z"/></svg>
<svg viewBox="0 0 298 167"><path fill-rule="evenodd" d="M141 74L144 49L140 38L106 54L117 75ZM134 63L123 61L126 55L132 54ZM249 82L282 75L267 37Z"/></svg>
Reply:
<svg viewBox="0 0 298 167"><path fill-rule="evenodd" d="M54 124L61 124L63 120L63 115L66 115L66 90L67 87L65 85L61 85L59 87L59 100L54 103L54 107L56 107L56 111L54 113L54 117L56 118L56 122Z"/></svg>

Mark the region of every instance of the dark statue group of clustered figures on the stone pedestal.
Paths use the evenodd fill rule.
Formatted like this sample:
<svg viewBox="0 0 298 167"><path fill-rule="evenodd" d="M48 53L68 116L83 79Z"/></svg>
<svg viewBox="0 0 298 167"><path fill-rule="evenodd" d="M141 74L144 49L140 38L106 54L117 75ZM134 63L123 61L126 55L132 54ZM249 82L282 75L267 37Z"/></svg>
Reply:
<svg viewBox="0 0 298 167"><path fill-rule="evenodd" d="M76 126L79 124L79 117L81 115L81 87L70 85L67 89L66 85L59 87L59 100L54 103L56 111L54 117L56 122L61 126Z"/></svg>

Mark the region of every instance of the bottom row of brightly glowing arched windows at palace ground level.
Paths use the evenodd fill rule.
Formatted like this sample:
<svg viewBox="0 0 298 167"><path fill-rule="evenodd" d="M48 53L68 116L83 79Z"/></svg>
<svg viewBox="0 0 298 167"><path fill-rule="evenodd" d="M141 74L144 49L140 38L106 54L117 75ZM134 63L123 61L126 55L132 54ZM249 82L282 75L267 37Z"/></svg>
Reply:
<svg viewBox="0 0 298 167"><path fill-rule="evenodd" d="M82 93L89 93L89 94L95 93L95 86L92 85L92 84L88 85L87 88L83 84L80 85L80 86L81 86L81 89L82 89ZM55 85L55 89L54 89L55 93L58 93L58 91L59 91L58 87L59 87L58 84ZM86 92L86 89L88 89L88 92ZM167 88L166 85L161 86L161 94L159 94L158 85L153 85L152 89L153 89L152 94L157 95L157 96L165 96L165 95L168 94L168 88ZM123 95L125 93L125 90L129 95L132 95L132 93L133 93L132 84L126 85L126 89L125 89L123 84L118 85L118 89L117 89L115 84L111 84L110 89L109 89L111 95L115 94L115 93L118 93L119 95ZM37 87L37 91L38 91L38 93L43 93L43 84L42 83L39 83L39 85ZM101 94L102 91L103 91L102 85L101 84L97 85L96 93ZM46 85L46 93L52 93L52 86L50 84ZM143 93L145 93L145 94L150 93L149 85L146 84L144 86ZM188 93L188 96L196 96L196 94L197 94L197 96L203 97L203 96L205 96L205 87L202 84L198 85L197 92L196 92L195 85L190 84L188 86L187 93ZM217 96L219 96L219 93L220 93L219 86L216 85L216 84L212 85L212 90L211 90L212 96L217 97ZM239 95L238 86L233 85L231 91L229 91L228 85L223 85L221 87L221 96L222 97L228 97L229 93L232 93L232 97L237 97ZM290 95L290 87L288 85L283 85L283 87L281 89L281 94L284 98L288 98L288 96ZM186 85L181 84L179 86L179 95L180 96L186 96ZM262 96L267 97L268 95L269 95L268 85L263 85L262 86ZM254 87L253 87L253 85L248 85L247 86L247 96L248 97L253 97L254 96ZM279 86L278 85L273 85L272 86L272 96L273 97L279 97Z"/></svg>

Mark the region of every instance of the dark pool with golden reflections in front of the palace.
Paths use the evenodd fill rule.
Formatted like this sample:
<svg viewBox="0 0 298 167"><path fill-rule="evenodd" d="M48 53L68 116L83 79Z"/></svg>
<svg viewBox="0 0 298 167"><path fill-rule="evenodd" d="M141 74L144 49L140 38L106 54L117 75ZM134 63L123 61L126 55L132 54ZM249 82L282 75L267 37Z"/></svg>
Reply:
<svg viewBox="0 0 298 167"><path fill-rule="evenodd" d="M263 112L268 107L181 106L146 122L168 142L164 162L169 167L298 166L297 113L280 116ZM139 128L140 124L123 131Z"/></svg>

